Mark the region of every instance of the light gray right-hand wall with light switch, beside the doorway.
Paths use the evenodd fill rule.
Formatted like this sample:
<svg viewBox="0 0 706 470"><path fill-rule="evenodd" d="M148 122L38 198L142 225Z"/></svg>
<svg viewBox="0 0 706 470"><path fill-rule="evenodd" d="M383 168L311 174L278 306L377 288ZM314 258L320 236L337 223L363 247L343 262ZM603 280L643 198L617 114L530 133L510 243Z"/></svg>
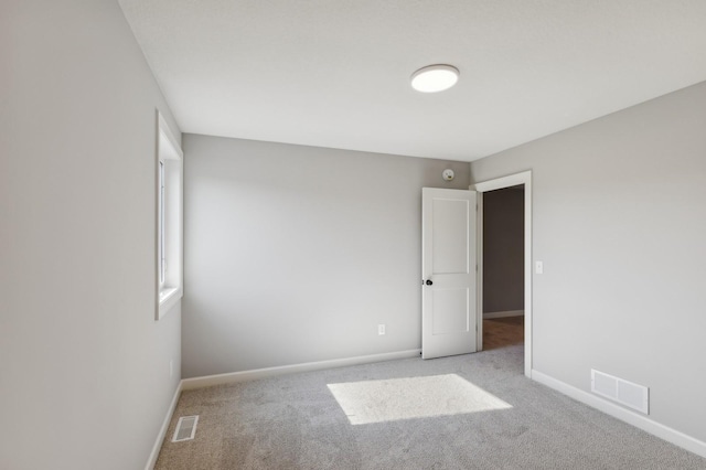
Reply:
<svg viewBox="0 0 706 470"><path fill-rule="evenodd" d="M706 83L471 164L527 169L534 368L646 385L652 419L706 441Z"/></svg>

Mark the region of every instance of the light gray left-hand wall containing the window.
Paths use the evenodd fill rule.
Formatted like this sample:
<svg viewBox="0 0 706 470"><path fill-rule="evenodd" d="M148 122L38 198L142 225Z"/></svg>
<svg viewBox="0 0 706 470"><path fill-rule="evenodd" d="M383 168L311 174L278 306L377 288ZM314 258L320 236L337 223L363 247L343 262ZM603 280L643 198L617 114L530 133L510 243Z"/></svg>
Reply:
<svg viewBox="0 0 706 470"><path fill-rule="evenodd" d="M0 468L145 468L180 378L179 309L154 321L169 110L114 0L6 0L0 35Z"/></svg>

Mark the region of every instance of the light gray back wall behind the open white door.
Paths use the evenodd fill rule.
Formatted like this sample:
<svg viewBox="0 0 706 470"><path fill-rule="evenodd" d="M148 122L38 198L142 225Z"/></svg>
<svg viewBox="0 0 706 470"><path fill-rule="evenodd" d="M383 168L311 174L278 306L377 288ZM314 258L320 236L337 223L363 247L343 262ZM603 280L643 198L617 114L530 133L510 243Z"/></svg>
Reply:
<svg viewBox="0 0 706 470"><path fill-rule="evenodd" d="M420 348L421 188L468 189L468 163L195 135L184 152L184 377Z"/></svg>

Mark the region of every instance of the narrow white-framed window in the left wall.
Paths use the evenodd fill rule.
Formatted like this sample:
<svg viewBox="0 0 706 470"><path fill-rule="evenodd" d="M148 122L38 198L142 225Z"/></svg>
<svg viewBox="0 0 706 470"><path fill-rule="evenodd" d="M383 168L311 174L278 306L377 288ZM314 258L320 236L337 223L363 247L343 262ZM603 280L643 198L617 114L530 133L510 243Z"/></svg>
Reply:
<svg viewBox="0 0 706 470"><path fill-rule="evenodd" d="M179 143L158 113L157 126L157 314L182 298L182 159Z"/></svg>

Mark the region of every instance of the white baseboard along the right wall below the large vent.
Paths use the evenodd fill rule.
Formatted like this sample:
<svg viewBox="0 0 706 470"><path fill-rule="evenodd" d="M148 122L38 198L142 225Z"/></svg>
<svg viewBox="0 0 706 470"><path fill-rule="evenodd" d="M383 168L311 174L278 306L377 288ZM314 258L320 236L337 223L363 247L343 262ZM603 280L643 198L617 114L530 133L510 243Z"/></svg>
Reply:
<svg viewBox="0 0 706 470"><path fill-rule="evenodd" d="M539 371L532 370L532 380L554 388L557 392L568 395L571 398L581 402L588 406L591 406L613 418L628 423L645 432L664 439L667 442L672 442L675 446L682 447L691 452L706 458L706 442L696 438L685 435L684 432L672 429L660 423L656 423L646 416L631 412L622 406L614 405L597 395L585 392L573 385L566 384Z"/></svg>

